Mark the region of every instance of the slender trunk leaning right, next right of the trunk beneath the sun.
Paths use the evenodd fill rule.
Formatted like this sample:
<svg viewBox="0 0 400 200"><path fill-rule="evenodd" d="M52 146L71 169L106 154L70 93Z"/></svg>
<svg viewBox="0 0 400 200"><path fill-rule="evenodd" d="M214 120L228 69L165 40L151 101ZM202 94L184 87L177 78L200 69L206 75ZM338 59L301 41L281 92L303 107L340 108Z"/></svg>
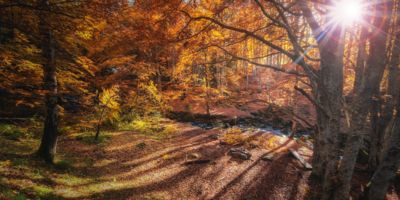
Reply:
<svg viewBox="0 0 400 200"><path fill-rule="evenodd" d="M391 11L389 2L375 5L375 9L380 13ZM383 15L386 16L386 15ZM373 22L374 27L380 31L388 30L390 20L386 17L376 17ZM379 28L378 28L379 27ZM357 155L363 141L364 125L368 116L368 109L372 105L376 91L379 91L380 83L385 69L387 34L377 34L371 39L365 78L362 81L360 91L356 94L352 105L352 117L350 135L347 137L346 146L343 153L343 160L339 168L339 183L337 191L334 192L334 199L349 199L351 189L351 179L353 177L354 166Z"/></svg>

